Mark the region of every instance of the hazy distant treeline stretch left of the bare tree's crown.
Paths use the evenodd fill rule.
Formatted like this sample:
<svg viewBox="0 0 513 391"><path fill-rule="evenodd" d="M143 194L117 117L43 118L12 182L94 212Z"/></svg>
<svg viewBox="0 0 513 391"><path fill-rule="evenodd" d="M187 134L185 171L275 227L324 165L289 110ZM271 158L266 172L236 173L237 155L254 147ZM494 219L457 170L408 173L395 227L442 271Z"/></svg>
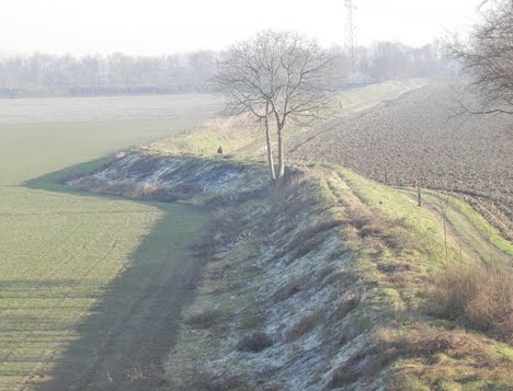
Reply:
<svg viewBox="0 0 513 391"><path fill-rule="evenodd" d="M208 91L216 53L162 57L53 56L35 53L0 59L0 94L100 95Z"/></svg>

